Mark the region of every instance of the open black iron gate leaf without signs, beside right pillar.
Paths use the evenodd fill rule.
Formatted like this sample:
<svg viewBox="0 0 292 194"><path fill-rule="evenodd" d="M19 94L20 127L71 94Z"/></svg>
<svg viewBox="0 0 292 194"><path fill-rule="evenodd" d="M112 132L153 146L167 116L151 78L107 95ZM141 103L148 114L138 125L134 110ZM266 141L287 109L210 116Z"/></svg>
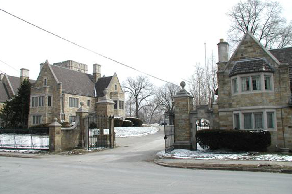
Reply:
<svg viewBox="0 0 292 194"><path fill-rule="evenodd" d="M174 150L174 114L164 114L165 153Z"/></svg>

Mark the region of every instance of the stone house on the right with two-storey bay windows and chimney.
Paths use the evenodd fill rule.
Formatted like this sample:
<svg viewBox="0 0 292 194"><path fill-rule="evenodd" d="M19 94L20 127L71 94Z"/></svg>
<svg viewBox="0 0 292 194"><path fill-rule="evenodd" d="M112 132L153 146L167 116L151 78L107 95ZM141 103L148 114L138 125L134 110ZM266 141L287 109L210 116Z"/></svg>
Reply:
<svg viewBox="0 0 292 194"><path fill-rule="evenodd" d="M218 43L218 101L214 127L265 129L275 151L292 149L292 47L267 50L246 33L229 58L229 44Z"/></svg>

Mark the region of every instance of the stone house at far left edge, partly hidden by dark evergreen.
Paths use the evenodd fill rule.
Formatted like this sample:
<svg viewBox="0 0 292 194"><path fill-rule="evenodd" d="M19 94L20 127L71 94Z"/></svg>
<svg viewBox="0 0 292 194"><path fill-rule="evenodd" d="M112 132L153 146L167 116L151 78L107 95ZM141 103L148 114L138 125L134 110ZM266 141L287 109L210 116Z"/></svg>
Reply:
<svg viewBox="0 0 292 194"><path fill-rule="evenodd" d="M29 79L29 70L20 69L20 77L14 77L7 74L0 74L0 110L3 108L6 100L14 97L20 84L24 79ZM29 80L33 85L35 80ZM0 127L6 126L6 123L0 119Z"/></svg>

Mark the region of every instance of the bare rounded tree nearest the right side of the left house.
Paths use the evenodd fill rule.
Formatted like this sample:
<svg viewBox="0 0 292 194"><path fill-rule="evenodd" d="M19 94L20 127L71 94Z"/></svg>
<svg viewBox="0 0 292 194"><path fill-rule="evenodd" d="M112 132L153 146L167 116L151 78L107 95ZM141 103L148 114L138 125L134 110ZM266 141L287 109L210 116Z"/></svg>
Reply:
<svg viewBox="0 0 292 194"><path fill-rule="evenodd" d="M147 106L147 99L154 94L153 84L145 76L137 76L135 79L128 77L123 88L135 102L135 114L139 118L139 111Z"/></svg>

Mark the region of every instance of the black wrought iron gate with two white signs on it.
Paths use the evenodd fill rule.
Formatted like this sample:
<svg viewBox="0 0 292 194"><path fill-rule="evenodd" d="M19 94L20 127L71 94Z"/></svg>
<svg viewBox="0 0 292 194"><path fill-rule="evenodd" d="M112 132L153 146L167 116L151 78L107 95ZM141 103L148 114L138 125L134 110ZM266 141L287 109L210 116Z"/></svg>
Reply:
<svg viewBox="0 0 292 194"><path fill-rule="evenodd" d="M88 149L114 147L114 116L88 116Z"/></svg>

